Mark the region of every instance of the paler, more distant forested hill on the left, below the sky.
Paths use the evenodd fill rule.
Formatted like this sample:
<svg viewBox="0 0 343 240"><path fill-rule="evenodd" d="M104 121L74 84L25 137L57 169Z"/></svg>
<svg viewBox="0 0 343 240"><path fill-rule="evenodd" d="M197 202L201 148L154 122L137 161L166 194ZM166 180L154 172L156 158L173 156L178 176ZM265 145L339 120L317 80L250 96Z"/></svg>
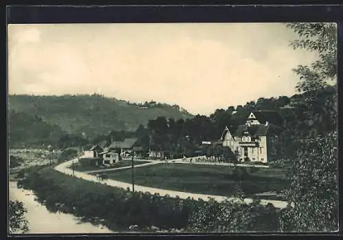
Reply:
<svg viewBox="0 0 343 240"><path fill-rule="evenodd" d="M150 119L164 116L174 119L192 117L177 105L154 101L132 104L102 95L32 96L10 95L9 108L49 125L58 125L69 134L96 136L111 130L136 130ZM27 126L29 128L29 126Z"/></svg>

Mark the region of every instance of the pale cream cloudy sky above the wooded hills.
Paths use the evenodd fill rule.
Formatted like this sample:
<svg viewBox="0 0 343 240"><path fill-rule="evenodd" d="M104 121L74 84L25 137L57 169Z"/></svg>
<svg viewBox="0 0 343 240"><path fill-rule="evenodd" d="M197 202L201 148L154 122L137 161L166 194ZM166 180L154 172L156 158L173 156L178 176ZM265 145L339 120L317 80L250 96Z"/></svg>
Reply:
<svg viewBox="0 0 343 240"><path fill-rule="evenodd" d="M291 96L316 53L283 23L8 25L10 94L99 93L192 114Z"/></svg>

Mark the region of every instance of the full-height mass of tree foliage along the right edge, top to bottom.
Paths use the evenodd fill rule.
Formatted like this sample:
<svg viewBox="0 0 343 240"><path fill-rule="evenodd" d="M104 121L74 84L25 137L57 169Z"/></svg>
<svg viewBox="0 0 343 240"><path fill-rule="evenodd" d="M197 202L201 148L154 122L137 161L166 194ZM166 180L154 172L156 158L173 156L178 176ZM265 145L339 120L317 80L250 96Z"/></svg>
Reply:
<svg viewBox="0 0 343 240"><path fill-rule="evenodd" d="M303 121L294 127L303 132L305 141L298 141L289 172L289 204L282 213L281 230L338 230L337 92L327 93L330 82L337 84L337 28L334 23L292 23L287 27L299 36L292 47L317 51L318 60L310 67L294 69L300 77L296 88L303 93Z"/></svg>

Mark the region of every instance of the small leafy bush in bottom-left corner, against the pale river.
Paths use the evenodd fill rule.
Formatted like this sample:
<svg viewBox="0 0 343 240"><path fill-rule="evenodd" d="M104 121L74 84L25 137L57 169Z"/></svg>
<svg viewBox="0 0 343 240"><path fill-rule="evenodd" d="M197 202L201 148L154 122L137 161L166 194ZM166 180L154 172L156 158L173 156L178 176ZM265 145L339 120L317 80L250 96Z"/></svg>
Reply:
<svg viewBox="0 0 343 240"><path fill-rule="evenodd" d="M19 231L27 232L29 230L25 213L27 213L27 209L23 202L19 202L18 200L10 201L10 233Z"/></svg>

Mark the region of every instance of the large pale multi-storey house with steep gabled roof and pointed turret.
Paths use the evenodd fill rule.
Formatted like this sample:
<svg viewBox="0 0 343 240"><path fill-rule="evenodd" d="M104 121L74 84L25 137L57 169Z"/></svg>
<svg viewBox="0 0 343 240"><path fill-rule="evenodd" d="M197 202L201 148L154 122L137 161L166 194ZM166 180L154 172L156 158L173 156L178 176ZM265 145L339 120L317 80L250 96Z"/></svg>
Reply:
<svg viewBox="0 0 343 240"><path fill-rule="evenodd" d="M246 123L239 125L237 130L230 132L228 127L225 128L222 145L229 147L239 161L268 163L281 155L281 125L278 112L250 112Z"/></svg>

